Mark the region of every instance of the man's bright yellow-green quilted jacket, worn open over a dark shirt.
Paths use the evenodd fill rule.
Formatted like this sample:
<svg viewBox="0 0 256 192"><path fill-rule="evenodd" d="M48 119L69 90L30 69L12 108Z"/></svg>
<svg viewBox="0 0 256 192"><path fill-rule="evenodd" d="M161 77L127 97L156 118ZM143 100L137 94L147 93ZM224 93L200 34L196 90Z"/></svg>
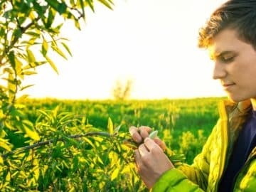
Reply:
<svg viewBox="0 0 256 192"><path fill-rule="evenodd" d="M238 104L221 101L218 106L220 118L201 154L196 156L191 166L183 164L166 171L152 191L218 191L218 183L228 164L233 144L251 109L250 100ZM255 157L256 147L235 178L233 191L256 191Z"/></svg>

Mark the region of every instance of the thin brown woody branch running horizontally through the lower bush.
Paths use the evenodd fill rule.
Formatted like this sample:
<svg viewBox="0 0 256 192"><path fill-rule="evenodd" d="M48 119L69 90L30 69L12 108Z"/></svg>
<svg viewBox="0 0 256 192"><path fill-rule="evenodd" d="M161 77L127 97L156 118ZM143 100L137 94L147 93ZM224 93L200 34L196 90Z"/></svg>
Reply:
<svg viewBox="0 0 256 192"><path fill-rule="evenodd" d="M81 137L88 137L88 136L103 136L103 137L112 137L113 135L112 134L109 134L107 132L89 132L89 133L85 133L85 134L73 134L73 135L70 135L69 138L71 139L78 139L78 138L81 138ZM28 145L28 146L23 146L23 147L20 147L18 149L14 149L14 151L10 151L6 154L1 154L1 157L3 159L6 159L8 156L11 156L17 152L21 152L21 151L26 151L28 149L34 149L36 147L39 147L39 146L43 146L43 145L47 145L47 144L50 144L50 143L53 143L54 139L50 139L48 141L45 141L45 142L38 142L36 144L31 144L31 145ZM58 139L57 141L60 141L60 142L64 142L65 139L64 138L60 138Z"/></svg>

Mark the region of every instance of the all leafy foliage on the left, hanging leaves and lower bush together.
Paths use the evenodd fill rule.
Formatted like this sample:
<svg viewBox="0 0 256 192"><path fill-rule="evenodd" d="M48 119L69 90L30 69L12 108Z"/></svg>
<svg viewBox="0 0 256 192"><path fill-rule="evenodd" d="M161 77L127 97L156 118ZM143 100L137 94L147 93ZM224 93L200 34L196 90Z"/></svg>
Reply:
<svg viewBox="0 0 256 192"><path fill-rule="evenodd" d="M112 9L111 0L98 0ZM58 73L53 53L72 55L60 36L63 23L80 29L92 0L3 0L0 2L0 190L126 191L143 190L125 134L101 132L73 114L38 110L35 122L18 92L27 75L48 64ZM26 97L26 96L23 96ZM22 100L23 97L19 98ZM105 137L103 139L102 137ZM122 174L121 174L122 173ZM97 179L96 179L97 178ZM129 179L127 179L129 178ZM122 182L120 182L122 181ZM129 183L129 184L127 184ZM140 188L140 189L139 189Z"/></svg>

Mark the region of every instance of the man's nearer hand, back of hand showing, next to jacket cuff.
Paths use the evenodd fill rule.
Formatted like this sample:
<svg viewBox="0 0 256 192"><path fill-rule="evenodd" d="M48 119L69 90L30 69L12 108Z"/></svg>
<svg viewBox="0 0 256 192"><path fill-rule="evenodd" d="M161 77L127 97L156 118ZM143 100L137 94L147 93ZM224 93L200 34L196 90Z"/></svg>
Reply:
<svg viewBox="0 0 256 192"><path fill-rule="evenodd" d="M174 168L160 146L149 137L135 150L135 161L147 188L152 188L165 171Z"/></svg>

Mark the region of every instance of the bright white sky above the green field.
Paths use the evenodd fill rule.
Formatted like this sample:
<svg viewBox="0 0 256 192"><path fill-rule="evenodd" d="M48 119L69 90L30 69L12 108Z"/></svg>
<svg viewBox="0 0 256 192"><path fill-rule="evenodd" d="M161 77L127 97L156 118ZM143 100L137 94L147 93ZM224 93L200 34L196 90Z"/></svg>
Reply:
<svg viewBox="0 0 256 192"><path fill-rule="evenodd" d="M81 31L65 23L73 57L54 57L24 80L30 97L105 100L119 80L132 80L132 99L220 97L213 62L197 47L198 29L223 0L116 0L113 11L85 10Z"/></svg>

